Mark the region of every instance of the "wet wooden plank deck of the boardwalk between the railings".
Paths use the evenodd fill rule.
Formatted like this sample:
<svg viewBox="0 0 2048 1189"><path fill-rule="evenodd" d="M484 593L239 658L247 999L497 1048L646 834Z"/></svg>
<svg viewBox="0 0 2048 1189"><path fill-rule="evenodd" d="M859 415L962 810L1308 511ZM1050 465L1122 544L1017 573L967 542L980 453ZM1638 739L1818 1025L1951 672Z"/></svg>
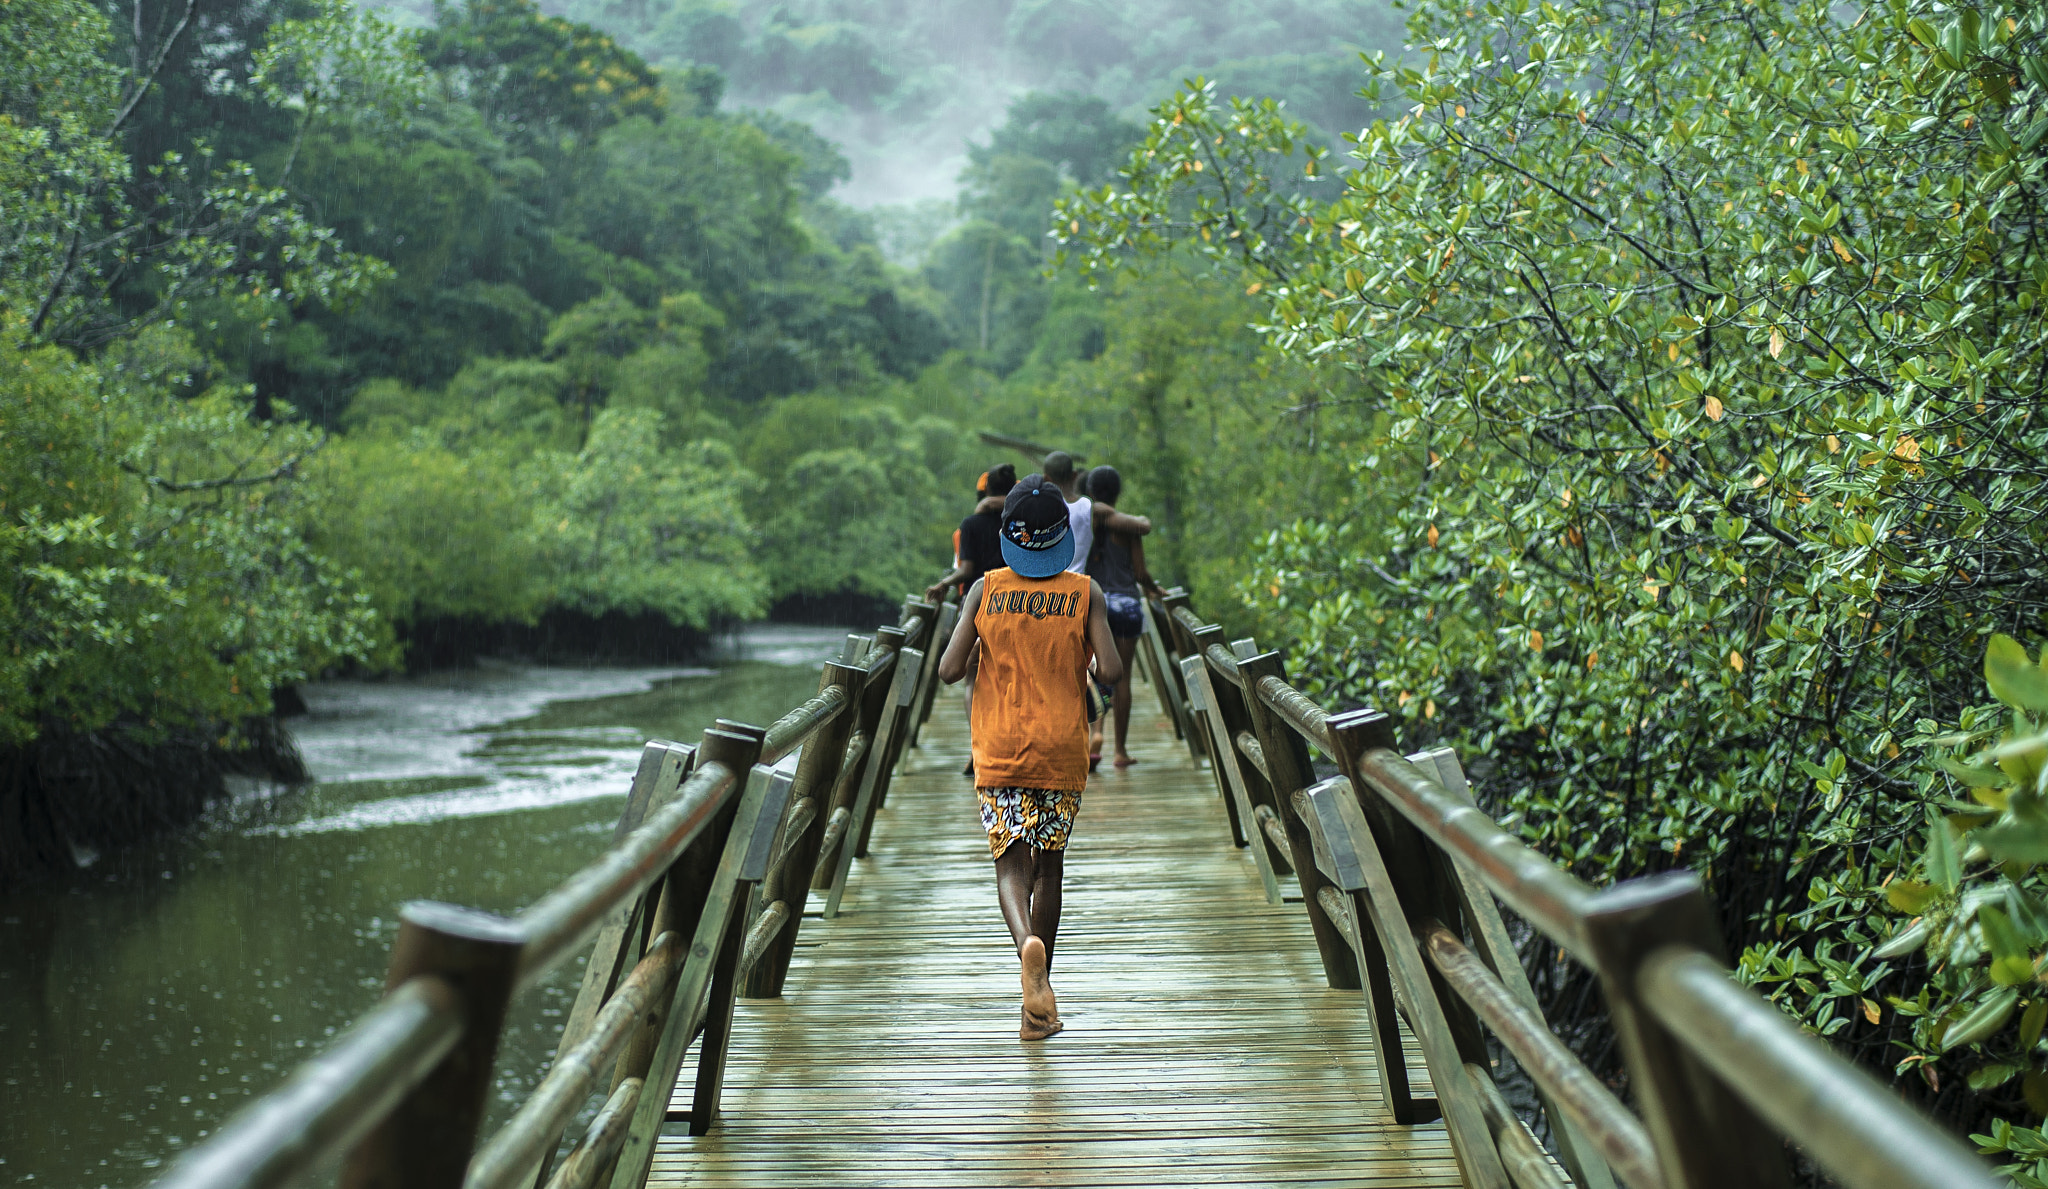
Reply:
<svg viewBox="0 0 2048 1189"><path fill-rule="evenodd" d="M784 999L741 1001L719 1126L666 1138L649 1185L1456 1185L1442 1124L1378 1107L1362 995L1323 986L1300 905L1266 905L1145 686L1133 753L1104 761L1067 857L1067 1031L1020 1042L940 692L842 915L805 921Z"/></svg>

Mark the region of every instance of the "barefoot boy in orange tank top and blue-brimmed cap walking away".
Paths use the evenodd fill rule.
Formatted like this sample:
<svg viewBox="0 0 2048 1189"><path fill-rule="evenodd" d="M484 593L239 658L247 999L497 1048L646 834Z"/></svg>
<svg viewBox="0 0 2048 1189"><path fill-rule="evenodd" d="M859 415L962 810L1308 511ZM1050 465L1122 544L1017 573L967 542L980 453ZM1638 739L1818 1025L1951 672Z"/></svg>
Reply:
<svg viewBox="0 0 2048 1189"><path fill-rule="evenodd" d="M995 898L1018 948L1018 1036L1044 1040L1061 1029L1053 941L1067 837L1087 788L1087 661L1106 681L1122 679L1122 661L1102 587L1067 571L1067 501L1044 475L1004 499L1001 551L1010 565L967 591L938 677L950 686L979 657L975 798L995 855Z"/></svg>

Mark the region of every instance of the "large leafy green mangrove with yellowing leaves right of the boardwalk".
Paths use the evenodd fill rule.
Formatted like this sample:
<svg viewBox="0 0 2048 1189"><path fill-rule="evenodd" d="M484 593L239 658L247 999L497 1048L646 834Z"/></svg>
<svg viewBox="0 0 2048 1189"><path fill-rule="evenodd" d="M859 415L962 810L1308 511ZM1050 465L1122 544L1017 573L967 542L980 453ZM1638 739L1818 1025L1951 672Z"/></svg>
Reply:
<svg viewBox="0 0 2048 1189"><path fill-rule="evenodd" d="M1966 657L2048 628L2048 23L1425 2L1411 45L1341 174L1198 82L1059 219L1096 274L1208 258L1268 342L1356 377L1352 489L1247 598L1329 696L1487 755L1546 853L1706 874L1815 1031L1874 1064L1923 1021L1999 1036L2032 917L1978 919L1958 993L1878 958L1870 909L1942 800L1913 751L1974 700ZM1962 1056L1907 1068L1937 1062L1966 1126L2040 1111Z"/></svg>

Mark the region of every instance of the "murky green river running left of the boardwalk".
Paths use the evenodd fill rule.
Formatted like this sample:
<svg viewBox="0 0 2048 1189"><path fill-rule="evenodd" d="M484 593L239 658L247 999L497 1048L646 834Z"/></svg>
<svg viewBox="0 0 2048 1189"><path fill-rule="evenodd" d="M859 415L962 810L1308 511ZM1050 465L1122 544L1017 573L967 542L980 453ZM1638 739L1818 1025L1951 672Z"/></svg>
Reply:
<svg viewBox="0 0 2048 1189"><path fill-rule="evenodd" d="M756 626L702 669L485 665L305 688L313 784L0 896L0 1185L127 1189L377 1001L397 907L510 913L610 841L649 737L768 724L838 628ZM582 964L526 993L494 1121L555 1050Z"/></svg>

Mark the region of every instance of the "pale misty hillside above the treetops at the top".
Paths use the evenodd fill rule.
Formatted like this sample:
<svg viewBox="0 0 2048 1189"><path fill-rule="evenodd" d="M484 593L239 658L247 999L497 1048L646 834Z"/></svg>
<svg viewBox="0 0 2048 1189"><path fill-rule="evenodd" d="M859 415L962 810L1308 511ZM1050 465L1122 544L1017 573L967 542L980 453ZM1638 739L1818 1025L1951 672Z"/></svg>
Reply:
<svg viewBox="0 0 2048 1189"><path fill-rule="evenodd" d="M430 16L430 2L393 8ZM717 65L727 104L842 145L858 207L950 201L965 143L1026 90L1079 90L1126 117L1204 74L1288 102L1329 141L1370 119L1358 51L1395 51L1389 0L549 0L657 68Z"/></svg>

